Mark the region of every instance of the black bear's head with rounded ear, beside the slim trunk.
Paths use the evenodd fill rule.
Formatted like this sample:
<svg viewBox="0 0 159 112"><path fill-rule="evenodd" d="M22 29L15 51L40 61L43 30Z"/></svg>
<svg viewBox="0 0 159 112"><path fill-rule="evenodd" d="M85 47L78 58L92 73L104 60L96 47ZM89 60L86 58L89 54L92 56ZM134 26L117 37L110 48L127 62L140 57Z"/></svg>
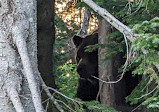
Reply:
<svg viewBox="0 0 159 112"><path fill-rule="evenodd" d="M80 78L88 79L98 76L98 50L86 52L89 45L98 43L98 33L88 35L85 38L75 35L73 37L76 46L77 72Z"/></svg>

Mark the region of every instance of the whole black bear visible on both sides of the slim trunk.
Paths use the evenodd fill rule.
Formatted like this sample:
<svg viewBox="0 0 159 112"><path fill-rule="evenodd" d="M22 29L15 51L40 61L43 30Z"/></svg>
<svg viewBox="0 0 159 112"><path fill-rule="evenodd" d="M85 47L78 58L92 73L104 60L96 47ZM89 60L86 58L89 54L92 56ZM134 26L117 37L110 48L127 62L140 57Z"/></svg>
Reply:
<svg viewBox="0 0 159 112"><path fill-rule="evenodd" d="M83 101L98 100L100 102L100 98L96 98L99 91L99 80L92 77L98 77L98 49L92 52L85 52L89 45L98 43L98 33L93 33L85 38L74 35L72 41L76 47L75 60L77 73L79 74L76 97ZM119 75L118 67L124 64L125 61L123 56L124 53L118 53L118 55L113 56L114 71L112 75L116 80ZM115 105L119 111L131 111L131 107L125 106L129 105L129 103L125 102L125 97L132 92L140 80L138 77L132 77L131 72L132 70L127 71L123 79L114 85ZM125 109L125 107L127 108Z"/></svg>

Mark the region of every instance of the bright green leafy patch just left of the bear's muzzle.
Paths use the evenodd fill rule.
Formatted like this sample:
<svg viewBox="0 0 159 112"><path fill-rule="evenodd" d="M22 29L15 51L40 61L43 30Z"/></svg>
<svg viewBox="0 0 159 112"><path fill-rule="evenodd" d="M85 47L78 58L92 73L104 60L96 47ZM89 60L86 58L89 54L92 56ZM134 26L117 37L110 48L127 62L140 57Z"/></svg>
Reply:
<svg viewBox="0 0 159 112"><path fill-rule="evenodd" d="M61 75L57 77L56 84L59 87L60 92L73 98L76 94L78 77L75 69L75 64L64 64L58 67Z"/></svg>

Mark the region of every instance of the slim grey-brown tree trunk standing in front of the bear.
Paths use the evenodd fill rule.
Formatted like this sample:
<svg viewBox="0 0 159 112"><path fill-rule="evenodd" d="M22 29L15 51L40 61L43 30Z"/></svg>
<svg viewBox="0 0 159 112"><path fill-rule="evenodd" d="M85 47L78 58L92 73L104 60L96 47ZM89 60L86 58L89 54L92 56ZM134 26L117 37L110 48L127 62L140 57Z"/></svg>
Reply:
<svg viewBox="0 0 159 112"><path fill-rule="evenodd" d="M111 26L106 20L99 21L99 39L98 42L100 44L109 43L109 39L106 38L111 32ZM105 81L113 80L112 74L112 59L101 63L101 60L105 59L106 56L104 53L108 50L108 48L99 49L99 78ZM115 104L115 96L114 96L114 84L104 84L102 82L99 83L99 92L100 92L100 100L102 104L106 104L107 106L114 107Z"/></svg>

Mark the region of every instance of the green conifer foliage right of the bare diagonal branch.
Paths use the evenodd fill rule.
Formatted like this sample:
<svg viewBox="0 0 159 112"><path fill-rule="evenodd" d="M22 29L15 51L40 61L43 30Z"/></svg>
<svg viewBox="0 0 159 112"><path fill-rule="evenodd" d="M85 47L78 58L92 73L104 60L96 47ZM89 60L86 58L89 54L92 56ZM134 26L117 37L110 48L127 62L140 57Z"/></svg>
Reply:
<svg viewBox="0 0 159 112"><path fill-rule="evenodd" d="M159 102L157 95L159 85L158 70L154 69L154 65L159 64L159 18L157 17L159 15L159 9L157 8L159 1L143 0L142 2L135 1L131 3L126 0L94 1L101 7L106 8L121 22L133 28L134 33L140 35L132 44L137 54L133 63L133 67L135 66L136 69L133 73L143 75L145 78L141 80L132 94L127 97L127 101L131 104L141 103L141 105L147 106L153 112L158 109ZM112 37L119 38L120 34ZM113 45L118 45L116 40L110 45L104 45L105 47L113 48L106 52L106 55L116 54L116 51L125 51L122 42L119 42L119 46L122 46L120 49L112 47Z"/></svg>

